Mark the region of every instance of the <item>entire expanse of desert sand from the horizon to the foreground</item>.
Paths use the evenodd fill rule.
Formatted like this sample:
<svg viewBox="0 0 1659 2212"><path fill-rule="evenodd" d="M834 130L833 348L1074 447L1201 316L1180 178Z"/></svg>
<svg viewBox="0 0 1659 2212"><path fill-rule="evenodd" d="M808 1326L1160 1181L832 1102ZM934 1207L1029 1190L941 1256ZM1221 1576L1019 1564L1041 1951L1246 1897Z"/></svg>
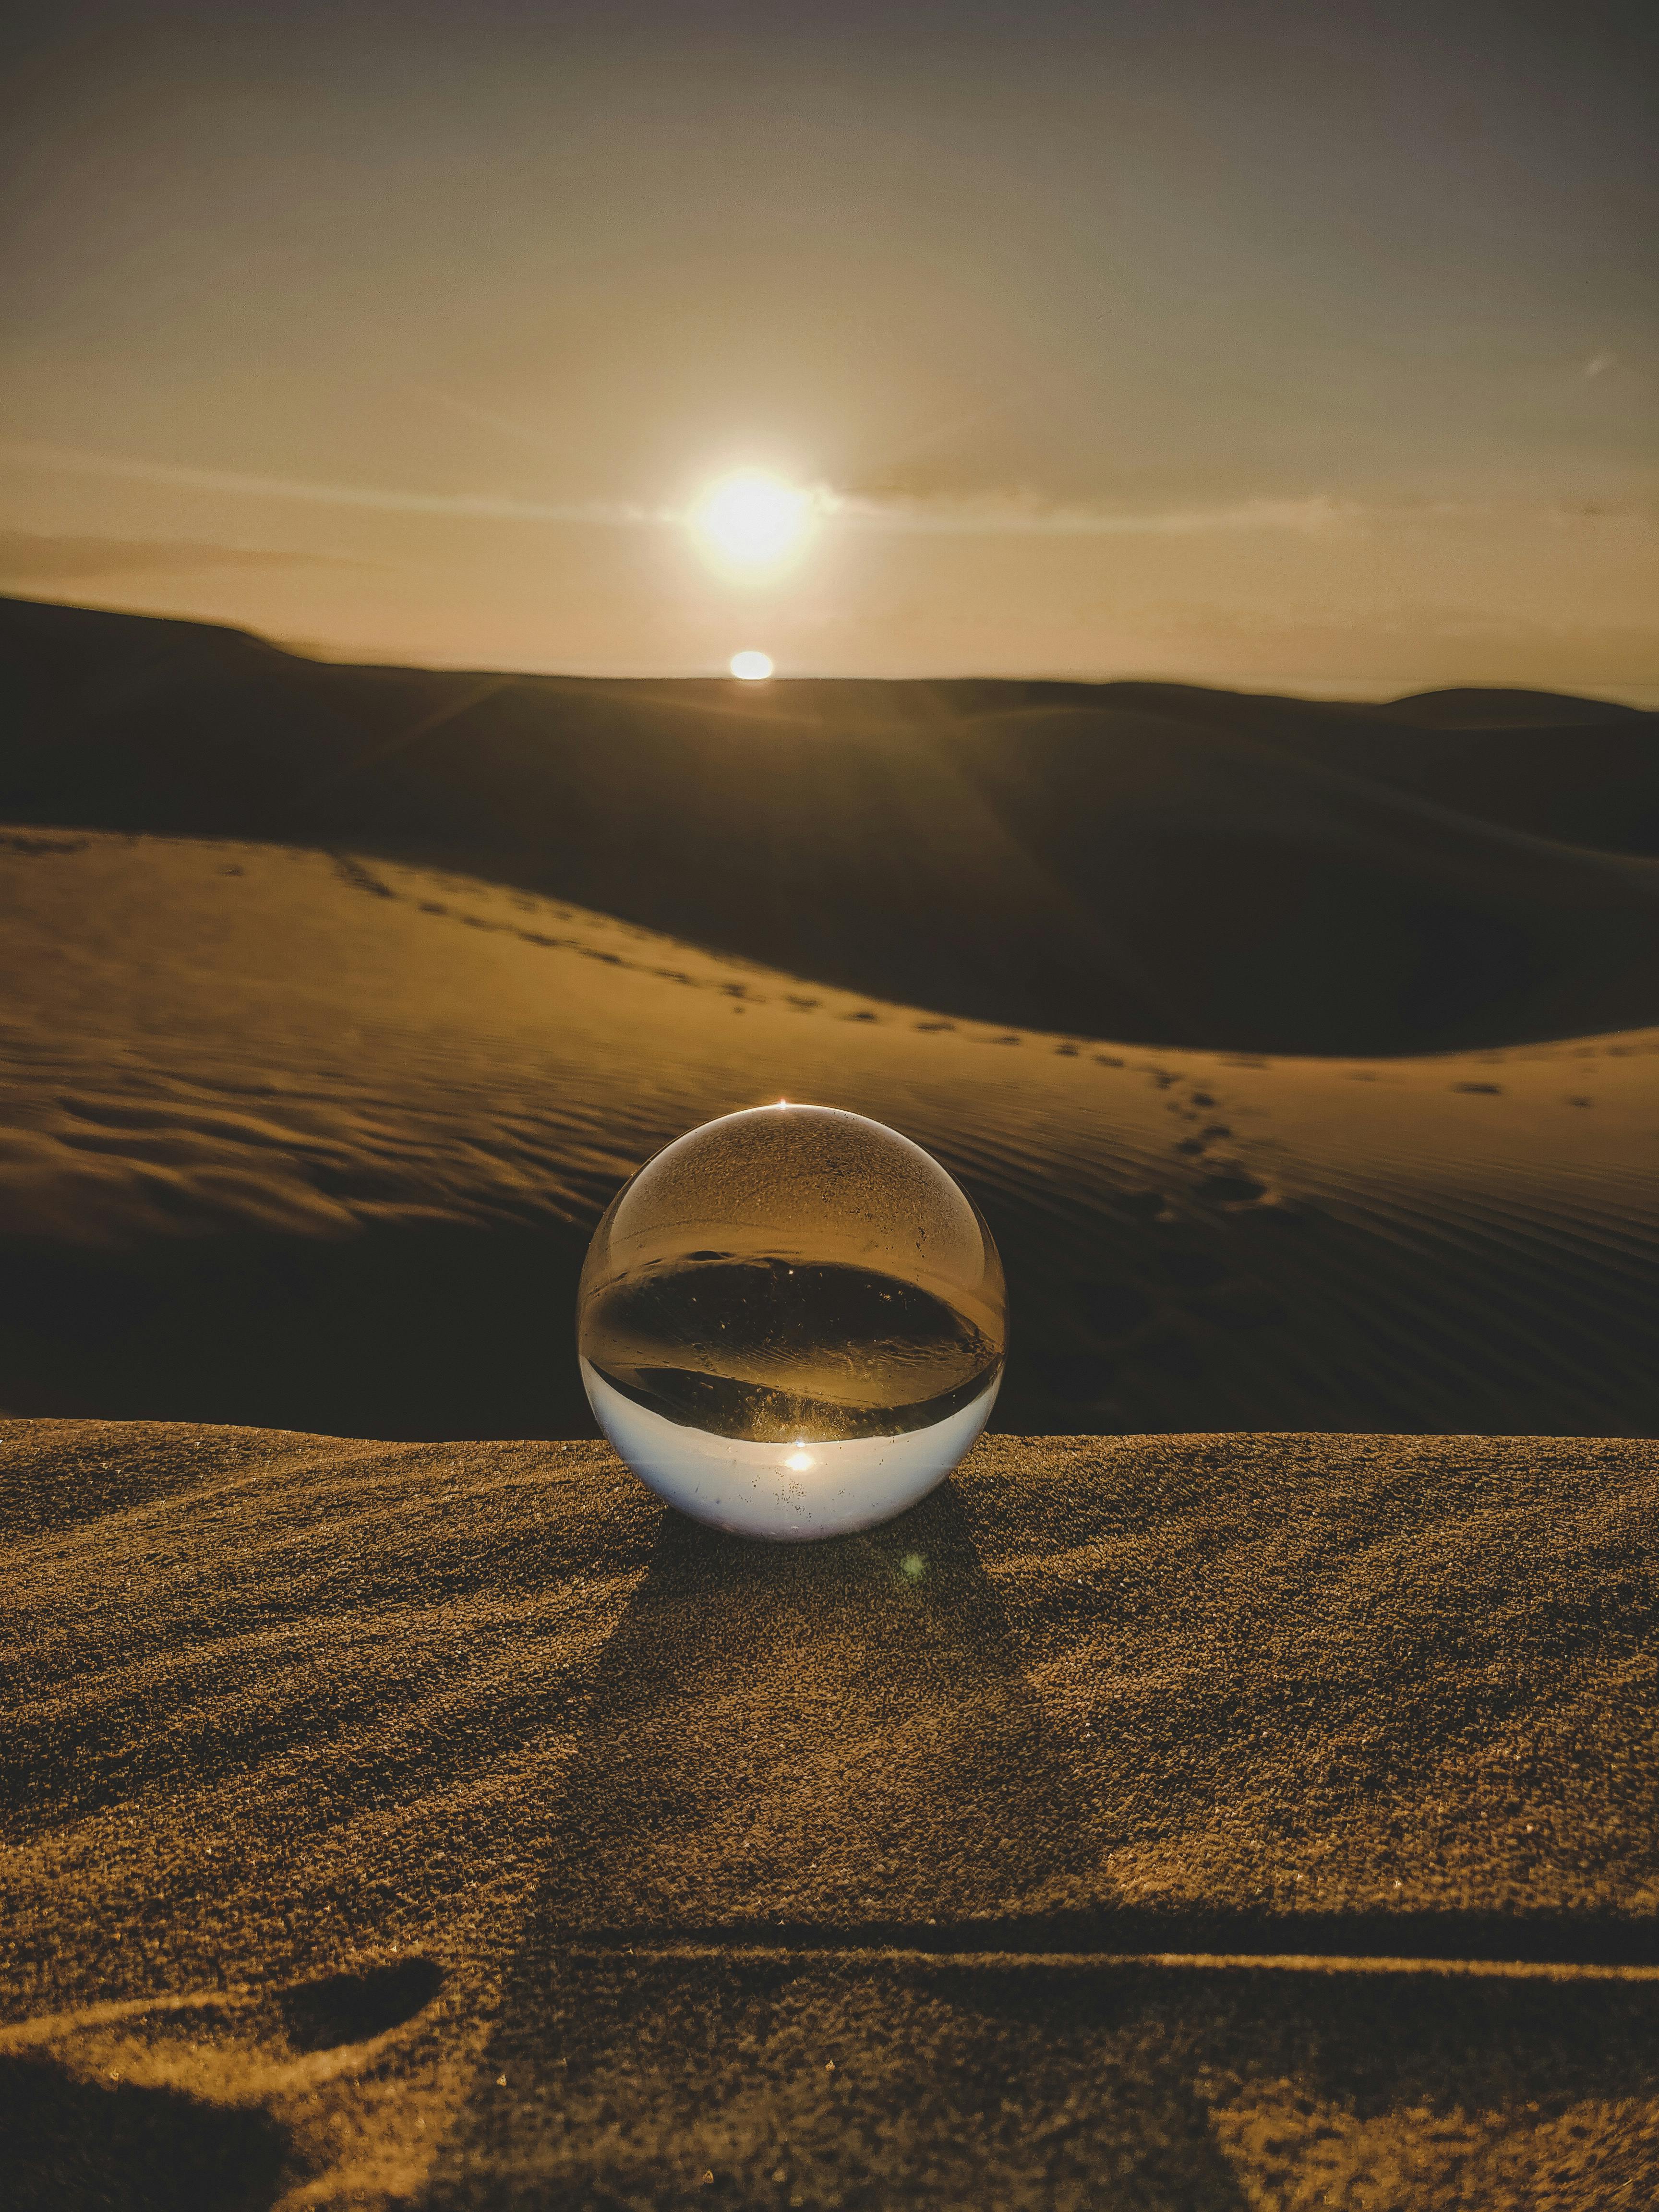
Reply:
<svg viewBox="0 0 1659 2212"><path fill-rule="evenodd" d="M159 1416L0 1418L20 2205L1659 2194L1650 719L0 648L0 1405ZM1157 1433L664 1515L582 1250L779 1095Z"/></svg>

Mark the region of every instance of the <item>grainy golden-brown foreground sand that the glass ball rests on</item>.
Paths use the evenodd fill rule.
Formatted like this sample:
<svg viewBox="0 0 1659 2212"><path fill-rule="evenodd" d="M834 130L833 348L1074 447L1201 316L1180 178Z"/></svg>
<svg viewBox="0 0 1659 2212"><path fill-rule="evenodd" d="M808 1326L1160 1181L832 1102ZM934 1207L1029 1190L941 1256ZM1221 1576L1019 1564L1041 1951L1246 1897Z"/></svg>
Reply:
<svg viewBox="0 0 1659 2212"><path fill-rule="evenodd" d="M27 2208L1659 2194L1659 1455L0 1427Z"/></svg>

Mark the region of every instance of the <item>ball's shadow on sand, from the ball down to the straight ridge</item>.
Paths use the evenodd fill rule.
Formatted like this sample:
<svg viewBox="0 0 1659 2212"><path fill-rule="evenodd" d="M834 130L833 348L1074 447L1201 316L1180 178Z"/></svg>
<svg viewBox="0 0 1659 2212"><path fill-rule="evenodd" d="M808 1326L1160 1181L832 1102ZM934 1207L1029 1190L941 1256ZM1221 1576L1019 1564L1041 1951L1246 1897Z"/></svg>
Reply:
<svg viewBox="0 0 1659 2212"><path fill-rule="evenodd" d="M827 1544L664 1515L597 1668L526 1929L1009 1911L1097 1854L945 1486Z"/></svg>

